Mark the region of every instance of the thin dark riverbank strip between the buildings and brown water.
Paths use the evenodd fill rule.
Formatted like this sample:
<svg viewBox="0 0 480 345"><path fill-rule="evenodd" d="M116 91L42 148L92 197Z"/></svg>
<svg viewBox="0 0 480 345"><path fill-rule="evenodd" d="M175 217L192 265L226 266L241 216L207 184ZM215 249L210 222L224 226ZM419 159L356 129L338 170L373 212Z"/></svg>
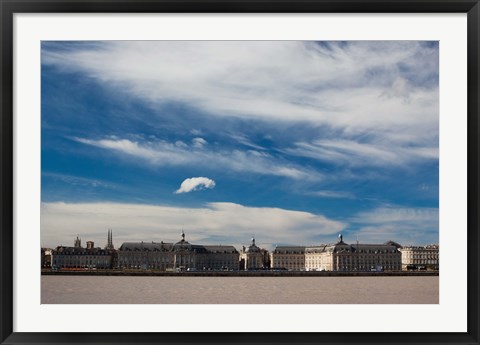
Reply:
<svg viewBox="0 0 480 345"><path fill-rule="evenodd" d="M42 275L69 276L159 276L159 277L421 277L438 276L438 271L402 271L402 272L338 272L338 271L194 271L164 272L148 270L78 270L52 271L42 270Z"/></svg>

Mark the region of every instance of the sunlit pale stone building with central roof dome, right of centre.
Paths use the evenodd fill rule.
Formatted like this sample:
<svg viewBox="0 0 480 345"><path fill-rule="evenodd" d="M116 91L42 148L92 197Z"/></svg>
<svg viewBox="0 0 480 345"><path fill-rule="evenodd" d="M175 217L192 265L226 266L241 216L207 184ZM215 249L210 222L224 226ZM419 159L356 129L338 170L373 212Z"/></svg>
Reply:
<svg viewBox="0 0 480 345"><path fill-rule="evenodd" d="M343 236L335 244L305 248L307 271L400 271L402 254L398 243L347 244Z"/></svg>

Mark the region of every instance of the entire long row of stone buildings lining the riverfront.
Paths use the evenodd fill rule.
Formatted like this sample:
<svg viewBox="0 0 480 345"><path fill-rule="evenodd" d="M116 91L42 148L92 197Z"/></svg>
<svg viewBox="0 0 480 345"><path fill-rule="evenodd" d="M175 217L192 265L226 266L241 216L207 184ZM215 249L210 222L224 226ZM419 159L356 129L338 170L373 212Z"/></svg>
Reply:
<svg viewBox="0 0 480 345"><path fill-rule="evenodd" d="M276 246L271 252L252 238L238 251L231 245L191 244L182 232L176 243L125 242L115 249L112 231L107 245L84 248L77 236L73 247L42 248L42 267L53 269L121 269L159 271L202 270L289 270L289 271L400 271L439 269L439 247L402 247L383 244L347 244L343 236L333 244L316 246ZM48 258L50 256L50 258Z"/></svg>

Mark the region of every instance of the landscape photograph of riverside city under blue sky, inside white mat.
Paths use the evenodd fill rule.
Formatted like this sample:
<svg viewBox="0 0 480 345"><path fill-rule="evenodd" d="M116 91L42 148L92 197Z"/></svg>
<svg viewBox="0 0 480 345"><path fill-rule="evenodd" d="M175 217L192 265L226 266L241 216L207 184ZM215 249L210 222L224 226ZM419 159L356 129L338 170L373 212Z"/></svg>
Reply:
<svg viewBox="0 0 480 345"><path fill-rule="evenodd" d="M42 40L41 304L438 305L437 40Z"/></svg>

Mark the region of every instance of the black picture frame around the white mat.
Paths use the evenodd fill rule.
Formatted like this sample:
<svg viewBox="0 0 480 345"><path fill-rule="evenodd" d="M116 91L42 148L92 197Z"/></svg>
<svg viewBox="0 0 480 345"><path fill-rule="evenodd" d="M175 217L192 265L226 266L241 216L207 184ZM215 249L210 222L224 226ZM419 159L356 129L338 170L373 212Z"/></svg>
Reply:
<svg viewBox="0 0 480 345"><path fill-rule="evenodd" d="M2 344L479 344L478 0L0 0L0 340ZM13 16L15 13L467 13L468 315L465 333L18 333L13 332ZM452 315L452 318L455 315Z"/></svg>

